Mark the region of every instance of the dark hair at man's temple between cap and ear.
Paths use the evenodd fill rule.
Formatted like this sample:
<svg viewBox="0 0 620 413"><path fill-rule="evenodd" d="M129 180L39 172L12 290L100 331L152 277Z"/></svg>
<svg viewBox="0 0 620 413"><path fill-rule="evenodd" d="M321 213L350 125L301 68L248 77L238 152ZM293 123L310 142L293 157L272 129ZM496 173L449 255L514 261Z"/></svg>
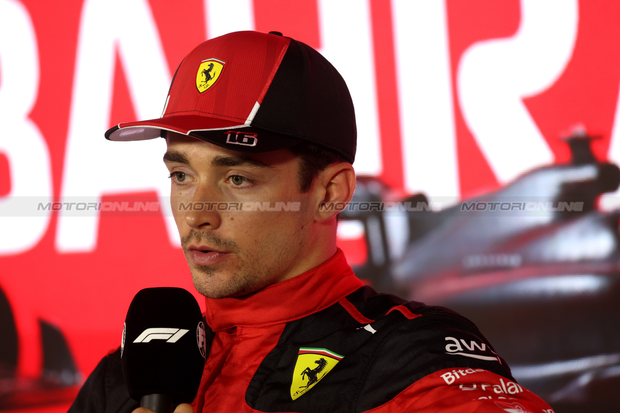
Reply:
<svg viewBox="0 0 620 413"><path fill-rule="evenodd" d="M289 149L293 154L299 156L297 176L301 192L310 190L312 180L323 169L335 162L345 162L339 153L306 141L294 144Z"/></svg>

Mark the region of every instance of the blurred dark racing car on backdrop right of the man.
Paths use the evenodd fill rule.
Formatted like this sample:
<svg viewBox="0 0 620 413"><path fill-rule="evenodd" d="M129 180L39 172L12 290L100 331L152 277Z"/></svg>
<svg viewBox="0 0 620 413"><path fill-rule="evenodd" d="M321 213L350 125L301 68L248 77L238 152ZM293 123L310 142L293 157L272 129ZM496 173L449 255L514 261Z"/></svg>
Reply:
<svg viewBox="0 0 620 413"><path fill-rule="evenodd" d="M393 195L362 178L341 213L364 228L360 278L472 319L556 413L620 406L620 210L597 208L620 169L595 159L591 139L577 130L570 163L439 211L424 195L372 208Z"/></svg>

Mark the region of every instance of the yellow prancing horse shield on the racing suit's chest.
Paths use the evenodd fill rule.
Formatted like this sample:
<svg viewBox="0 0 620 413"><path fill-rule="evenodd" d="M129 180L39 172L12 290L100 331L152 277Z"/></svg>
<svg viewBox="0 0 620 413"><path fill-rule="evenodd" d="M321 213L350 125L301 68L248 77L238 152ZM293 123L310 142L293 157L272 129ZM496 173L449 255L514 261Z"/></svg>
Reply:
<svg viewBox="0 0 620 413"><path fill-rule="evenodd" d="M291 383L291 398L306 393L314 384L329 373L335 365L342 360L343 356L330 352L327 349L314 349L310 347L299 349L297 362L293 370L293 382Z"/></svg>

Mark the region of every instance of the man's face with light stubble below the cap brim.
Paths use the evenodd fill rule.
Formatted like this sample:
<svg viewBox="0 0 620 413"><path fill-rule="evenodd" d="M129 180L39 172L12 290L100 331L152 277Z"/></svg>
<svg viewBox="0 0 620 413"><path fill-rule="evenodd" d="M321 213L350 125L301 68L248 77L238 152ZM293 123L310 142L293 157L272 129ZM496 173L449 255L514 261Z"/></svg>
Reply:
<svg viewBox="0 0 620 413"><path fill-rule="evenodd" d="M244 295L309 269L314 208L299 192L298 158L284 149L241 153L176 133L166 141L172 212L202 295Z"/></svg>

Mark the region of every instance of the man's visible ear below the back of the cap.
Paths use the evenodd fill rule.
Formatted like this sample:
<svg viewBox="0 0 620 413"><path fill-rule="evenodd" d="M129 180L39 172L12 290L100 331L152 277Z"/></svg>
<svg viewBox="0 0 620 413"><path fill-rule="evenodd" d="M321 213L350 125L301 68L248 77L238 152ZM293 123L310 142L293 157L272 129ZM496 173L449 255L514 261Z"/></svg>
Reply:
<svg viewBox="0 0 620 413"><path fill-rule="evenodd" d="M321 199L315 217L322 222L342 211L353 197L355 169L348 162L332 164L319 172L316 181L317 194Z"/></svg>

